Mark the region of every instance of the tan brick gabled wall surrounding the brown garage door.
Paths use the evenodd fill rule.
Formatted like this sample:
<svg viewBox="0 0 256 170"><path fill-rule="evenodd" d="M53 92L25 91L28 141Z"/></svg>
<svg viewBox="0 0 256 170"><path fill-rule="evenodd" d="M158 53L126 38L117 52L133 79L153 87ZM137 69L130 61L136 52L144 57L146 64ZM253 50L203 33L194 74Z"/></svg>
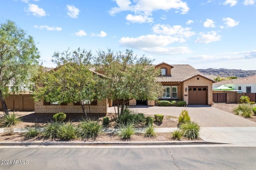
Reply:
<svg viewBox="0 0 256 170"><path fill-rule="evenodd" d="M197 80L199 78L199 80ZM212 105L212 81L208 80L207 78L204 78L202 76L195 76L193 78L190 78L189 80L186 80L183 82L183 100L188 103L188 91L185 91L185 88L188 89L188 86L208 86L208 105ZM185 94L187 96L185 96Z"/></svg>

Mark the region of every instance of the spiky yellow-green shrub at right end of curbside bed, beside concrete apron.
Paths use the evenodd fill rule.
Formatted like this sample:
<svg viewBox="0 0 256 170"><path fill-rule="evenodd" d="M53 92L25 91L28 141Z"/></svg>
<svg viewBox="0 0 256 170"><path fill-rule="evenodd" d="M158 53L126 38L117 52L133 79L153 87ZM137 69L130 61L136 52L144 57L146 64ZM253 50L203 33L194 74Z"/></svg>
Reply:
<svg viewBox="0 0 256 170"><path fill-rule="evenodd" d="M180 125L184 137L188 139L198 139L200 126L196 122L186 122Z"/></svg>

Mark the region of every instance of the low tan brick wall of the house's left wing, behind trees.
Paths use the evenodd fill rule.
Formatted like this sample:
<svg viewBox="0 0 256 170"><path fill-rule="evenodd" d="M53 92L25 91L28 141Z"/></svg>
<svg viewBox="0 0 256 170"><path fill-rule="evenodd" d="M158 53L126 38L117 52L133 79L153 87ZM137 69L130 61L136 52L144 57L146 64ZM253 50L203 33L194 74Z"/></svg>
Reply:
<svg viewBox="0 0 256 170"><path fill-rule="evenodd" d="M89 113L89 106L84 105L86 113ZM97 105L90 105L91 113L106 115L108 111L108 100L97 101ZM67 105L44 105L44 102L35 102L35 113L83 113L80 105L68 103Z"/></svg>

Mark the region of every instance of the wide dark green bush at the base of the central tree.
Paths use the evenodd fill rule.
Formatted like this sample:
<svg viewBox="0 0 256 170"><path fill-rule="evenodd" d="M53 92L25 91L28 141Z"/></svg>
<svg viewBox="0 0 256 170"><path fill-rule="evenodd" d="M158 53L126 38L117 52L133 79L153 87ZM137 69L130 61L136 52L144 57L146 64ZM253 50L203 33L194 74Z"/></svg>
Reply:
<svg viewBox="0 0 256 170"><path fill-rule="evenodd" d="M117 123L127 123L127 122L144 122L146 120L143 113L136 113L130 109L126 109L123 114L119 115Z"/></svg>

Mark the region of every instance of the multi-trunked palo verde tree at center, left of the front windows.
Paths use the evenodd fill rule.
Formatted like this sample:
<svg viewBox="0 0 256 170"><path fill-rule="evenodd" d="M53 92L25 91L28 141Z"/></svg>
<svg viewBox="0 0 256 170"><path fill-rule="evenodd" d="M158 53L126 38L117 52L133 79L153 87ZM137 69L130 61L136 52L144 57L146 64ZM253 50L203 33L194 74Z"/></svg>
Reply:
<svg viewBox="0 0 256 170"><path fill-rule="evenodd" d="M104 88L98 92L118 102L118 115L123 113L129 100L157 100L162 95L162 85L156 82L160 70L146 57L134 56L132 50L127 49L124 54L110 49L107 53L99 51L95 64L97 71L105 75L99 80L99 86Z"/></svg>

